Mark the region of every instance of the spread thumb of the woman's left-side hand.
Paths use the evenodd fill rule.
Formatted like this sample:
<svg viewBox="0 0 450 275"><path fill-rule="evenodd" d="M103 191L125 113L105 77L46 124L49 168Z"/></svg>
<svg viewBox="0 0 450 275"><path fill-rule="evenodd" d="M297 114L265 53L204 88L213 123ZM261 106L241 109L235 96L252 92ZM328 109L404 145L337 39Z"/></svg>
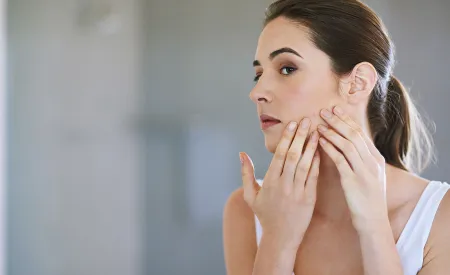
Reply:
<svg viewBox="0 0 450 275"><path fill-rule="evenodd" d="M244 188L244 200L252 207L256 199L256 194L260 187L255 179L255 170L250 157L243 152L239 153L241 160L242 184Z"/></svg>

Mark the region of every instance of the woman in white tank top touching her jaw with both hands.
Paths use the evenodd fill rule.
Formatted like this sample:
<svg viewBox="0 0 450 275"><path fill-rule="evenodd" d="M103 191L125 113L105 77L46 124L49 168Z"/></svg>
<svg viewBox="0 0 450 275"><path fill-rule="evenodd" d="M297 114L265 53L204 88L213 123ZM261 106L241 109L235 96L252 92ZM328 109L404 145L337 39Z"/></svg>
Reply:
<svg viewBox="0 0 450 275"><path fill-rule="evenodd" d="M256 103L273 160L224 210L238 274L450 272L448 184L418 177L426 128L393 76L394 48L357 0L280 0L258 41Z"/></svg>

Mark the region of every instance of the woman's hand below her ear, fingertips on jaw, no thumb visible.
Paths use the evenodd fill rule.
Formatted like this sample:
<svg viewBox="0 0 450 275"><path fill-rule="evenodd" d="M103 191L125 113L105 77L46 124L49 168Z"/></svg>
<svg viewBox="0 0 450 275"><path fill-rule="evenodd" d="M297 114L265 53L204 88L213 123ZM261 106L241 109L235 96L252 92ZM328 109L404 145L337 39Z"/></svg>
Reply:
<svg viewBox="0 0 450 275"><path fill-rule="evenodd" d="M358 232L388 222L385 161L372 140L339 107L322 110L332 129L319 126L323 150L336 164Z"/></svg>

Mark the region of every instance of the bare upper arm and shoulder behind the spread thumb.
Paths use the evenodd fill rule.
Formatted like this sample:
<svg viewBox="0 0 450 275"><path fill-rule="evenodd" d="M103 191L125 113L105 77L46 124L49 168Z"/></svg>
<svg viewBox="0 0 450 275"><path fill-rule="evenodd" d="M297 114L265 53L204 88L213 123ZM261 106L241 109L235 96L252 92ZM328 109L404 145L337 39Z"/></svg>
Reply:
<svg viewBox="0 0 450 275"><path fill-rule="evenodd" d="M243 189L237 189L224 207L223 245L228 275L251 274L257 252L255 219L243 195Z"/></svg>

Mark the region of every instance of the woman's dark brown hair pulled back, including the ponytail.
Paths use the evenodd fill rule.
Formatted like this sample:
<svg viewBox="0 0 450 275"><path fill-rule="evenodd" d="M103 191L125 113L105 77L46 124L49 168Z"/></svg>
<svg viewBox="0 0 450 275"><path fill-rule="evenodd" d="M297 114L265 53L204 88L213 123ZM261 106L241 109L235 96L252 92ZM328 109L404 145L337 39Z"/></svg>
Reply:
<svg viewBox="0 0 450 275"><path fill-rule="evenodd" d="M394 45L381 19L358 0L279 0L264 25L278 17L309 29L311 41L331 59L338 76L371 63L378 82L367 106L375 146L386 162L421 172L433 160L433 144L407 90L392 75Z"/></svg>

